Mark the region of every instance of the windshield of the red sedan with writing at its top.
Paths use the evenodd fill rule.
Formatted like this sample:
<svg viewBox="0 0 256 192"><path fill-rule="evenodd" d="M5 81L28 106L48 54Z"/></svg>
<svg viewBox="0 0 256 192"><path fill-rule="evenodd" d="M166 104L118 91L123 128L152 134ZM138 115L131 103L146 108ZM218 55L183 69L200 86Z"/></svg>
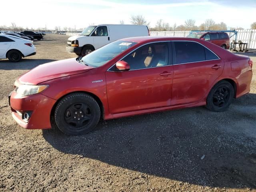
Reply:
<svg viewBox="0 0 256 192"><path fill-rule="evenodd" d="M137 43L117 40L83 56L80 61L88 66L100 67L135 44Z"/></svg>

